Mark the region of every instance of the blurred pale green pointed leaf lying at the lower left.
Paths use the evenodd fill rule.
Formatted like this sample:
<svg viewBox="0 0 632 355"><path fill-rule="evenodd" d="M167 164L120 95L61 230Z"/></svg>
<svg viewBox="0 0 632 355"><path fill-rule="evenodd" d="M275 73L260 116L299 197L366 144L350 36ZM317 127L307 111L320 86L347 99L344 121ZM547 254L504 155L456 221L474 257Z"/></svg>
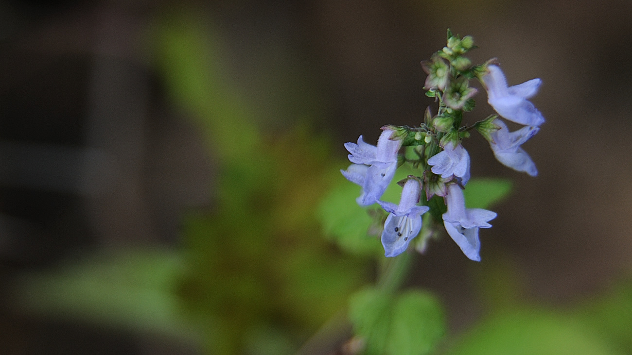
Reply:
<svg viewBox="0 0 632 355"><path fill-rule="evenodd" d="M13 294L26 311L137 332L191 337L174 294L183 263L173 252L92 255L23 274Z"/></svg>

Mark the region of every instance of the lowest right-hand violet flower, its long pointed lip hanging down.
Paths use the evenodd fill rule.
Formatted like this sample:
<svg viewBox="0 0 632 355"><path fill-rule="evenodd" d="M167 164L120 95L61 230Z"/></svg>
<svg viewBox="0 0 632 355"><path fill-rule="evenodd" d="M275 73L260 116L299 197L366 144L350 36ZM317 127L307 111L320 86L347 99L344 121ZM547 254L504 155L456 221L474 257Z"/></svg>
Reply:
<svg viewBox="0 0 632 355"><path fill-rule="evenodd" d="M489 228L487 223L496 217L495 212L482 208L465 208L463 191L457 184L449 184L445 197L447 212L443 214L443 224L447 234L461 248L463 254L480 262L480 241L478 239L479 228Z"/></svg>

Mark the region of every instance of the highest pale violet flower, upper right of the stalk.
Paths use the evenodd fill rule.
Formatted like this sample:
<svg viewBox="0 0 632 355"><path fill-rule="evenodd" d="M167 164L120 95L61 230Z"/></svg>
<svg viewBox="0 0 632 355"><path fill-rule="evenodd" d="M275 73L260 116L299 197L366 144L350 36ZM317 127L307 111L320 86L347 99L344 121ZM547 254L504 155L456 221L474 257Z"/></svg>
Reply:
<svg viewBox="0 0 632 355"><path fill-rule="evenodd" d="M489 72L482 78L487 90L487 102L499 115L525 126L540 126L544 123L544 116L527 100L538 92L542 80L532 79L507 87L501 68L490 65L487 69Z"/></svg>

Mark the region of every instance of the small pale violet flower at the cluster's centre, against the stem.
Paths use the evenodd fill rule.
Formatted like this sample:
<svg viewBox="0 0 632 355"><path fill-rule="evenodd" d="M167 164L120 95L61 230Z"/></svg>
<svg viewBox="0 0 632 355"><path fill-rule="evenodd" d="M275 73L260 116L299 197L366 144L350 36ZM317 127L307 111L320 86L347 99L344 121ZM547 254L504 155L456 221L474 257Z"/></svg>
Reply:
<svg viewBox="0 0 632 355"><path fill-rule="evenodd" d="M432 172L441 175L441 178L449 179L456 176L465 185L470 179L470 155L462 145L449 141L443 147L444 150L428 159L428 165L432 165Z"/></svg>

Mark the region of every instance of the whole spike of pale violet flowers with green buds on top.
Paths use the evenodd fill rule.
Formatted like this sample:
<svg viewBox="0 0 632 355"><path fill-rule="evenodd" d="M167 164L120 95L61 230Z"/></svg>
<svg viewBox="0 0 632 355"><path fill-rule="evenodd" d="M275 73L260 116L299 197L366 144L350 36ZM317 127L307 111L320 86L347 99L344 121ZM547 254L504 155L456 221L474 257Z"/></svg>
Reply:
<svg viewBox="0 0 632 355"><path fill-rule="evenodd" d="M475 45L472 37L463 38L448 30L447 45L435 52L430 61L423 61L428 74L424 89L428 97L438 103L434 116L428 108L419 127L382 127L377 146L363 141L346 143L349 160L353 163L341 171L349 181L362 186L356 199L362 206L379 203L388 212L382 232L382 245L386 256L397 256L413 239L434 233L422 232L423 218L429 212L441 221L447 234L471 260L480 260L478 229L489 228L495 212L481 208L466 208L463 190L470 179L470 155L463 147L470 130L476 129L490 143L492 152L501 164L516 171L536 176L535 163L521 145L535 135L544 117L528 99L537 93L540 79L533 79L507 87L507 81L495 59L473 65L463 56ZM462 124L464 112L472 111L472 97L477 89L470 80L477 79L487 91L487 102L497 115L489 116L471 126ZM510 131L500 119L523 125ZM414 152L410 159L406 150ZM391 183L396 169L412 164L419 169L418 176L409 175L399 184L403 186L399 205L380 200ZM425 222L427 221L427 222ZM423 249L426 240L418 238Z"/></svg>

